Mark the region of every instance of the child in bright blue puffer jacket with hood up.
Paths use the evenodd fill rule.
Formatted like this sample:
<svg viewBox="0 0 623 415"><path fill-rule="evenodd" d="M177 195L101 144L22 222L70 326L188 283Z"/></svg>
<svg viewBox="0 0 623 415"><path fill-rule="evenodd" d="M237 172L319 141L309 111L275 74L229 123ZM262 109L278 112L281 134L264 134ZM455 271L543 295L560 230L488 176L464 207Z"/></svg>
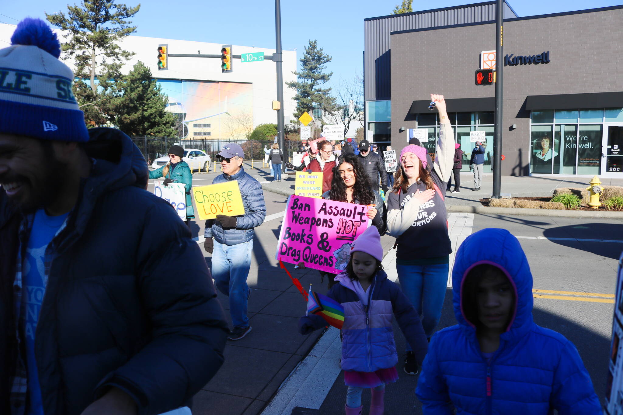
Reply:
<svg viewBox="0 0 623 415"><path fill-rule="evenodd" d="M424 415L602 414L573 343L532 320L532 274L515 236L468 236L452 284L459 324L430 342L416 389Z"/></svg>

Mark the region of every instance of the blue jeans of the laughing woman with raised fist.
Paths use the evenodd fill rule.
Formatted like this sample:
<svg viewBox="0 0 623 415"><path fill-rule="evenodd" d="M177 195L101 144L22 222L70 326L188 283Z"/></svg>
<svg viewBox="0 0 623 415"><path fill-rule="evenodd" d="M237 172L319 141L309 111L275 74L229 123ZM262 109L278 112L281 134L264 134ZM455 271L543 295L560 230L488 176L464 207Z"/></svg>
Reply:
<svg viewBox="0 0 623 415"><path fill-rule="evenodd" d="M444 305L445 289L448 282L448 270L449 264L396 264L402 292L416 307L426 337L432 336L432 332L441 317L441 307ZM407 343L406 349L411 350L409 343Z"/></svg>

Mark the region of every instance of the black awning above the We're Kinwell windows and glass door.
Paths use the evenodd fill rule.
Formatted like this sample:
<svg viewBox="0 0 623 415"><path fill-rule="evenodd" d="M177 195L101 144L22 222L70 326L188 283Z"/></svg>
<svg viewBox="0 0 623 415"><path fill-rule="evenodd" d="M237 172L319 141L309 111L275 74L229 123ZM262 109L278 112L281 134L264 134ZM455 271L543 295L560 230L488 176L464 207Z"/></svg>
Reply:
<svg viewBox="0 0 623 415"><path fill-rule="evenodd" d="M566 110L621 106L623 106L623 91L587 94L528 95L526 98L526 110Z"/></svg>

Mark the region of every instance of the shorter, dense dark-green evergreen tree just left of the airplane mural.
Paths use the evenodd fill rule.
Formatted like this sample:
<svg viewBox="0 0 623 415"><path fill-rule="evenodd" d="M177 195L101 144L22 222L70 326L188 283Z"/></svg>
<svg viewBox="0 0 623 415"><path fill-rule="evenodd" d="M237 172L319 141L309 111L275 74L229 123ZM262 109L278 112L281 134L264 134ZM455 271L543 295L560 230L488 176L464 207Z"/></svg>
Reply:
<svg viewBox="0 0 623 415"><path fill-rule="evenodd" d="M136 63L115 86L110 107L121 131L128 136L176 137L176 117L164 111L168 98L145 63Z"/></svg>

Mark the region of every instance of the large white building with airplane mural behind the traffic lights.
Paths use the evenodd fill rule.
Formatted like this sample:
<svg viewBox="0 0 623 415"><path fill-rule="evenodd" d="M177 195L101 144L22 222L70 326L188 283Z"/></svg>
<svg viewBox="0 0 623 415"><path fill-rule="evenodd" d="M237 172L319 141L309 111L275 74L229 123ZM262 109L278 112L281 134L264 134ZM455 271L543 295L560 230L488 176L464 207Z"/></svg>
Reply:
<svg viewBox="0 0 623 415"><path fill-rule="evenodd" d="M15 26L0 24L0 45L11 43ZM62 31L54 30L62 40ZM123 66L121 72L130 72L141 61L150 68L154 78L169 97L169 110L183 114L188 125L188 138L242 139L249 128L258 124L277 123L277 111L272 101L277 100L276 63L272 60L245 62L234 59L232 73L221 72L220 58L169 57L168 68L158 70L158 45L168 44L169 54L221 54L221 44L190 40L159 39L128 36L121 49L136 54ZM0 46L0 47L3 47ZM232 54L264 52L270 57L275 50L233 45ZM283 114L290 123L296 103L295 91L285 85L296 80L297 52L283 51ZM73 63L68 60L68 65ZM249 125L252 123L252 125Z"/></svg>

